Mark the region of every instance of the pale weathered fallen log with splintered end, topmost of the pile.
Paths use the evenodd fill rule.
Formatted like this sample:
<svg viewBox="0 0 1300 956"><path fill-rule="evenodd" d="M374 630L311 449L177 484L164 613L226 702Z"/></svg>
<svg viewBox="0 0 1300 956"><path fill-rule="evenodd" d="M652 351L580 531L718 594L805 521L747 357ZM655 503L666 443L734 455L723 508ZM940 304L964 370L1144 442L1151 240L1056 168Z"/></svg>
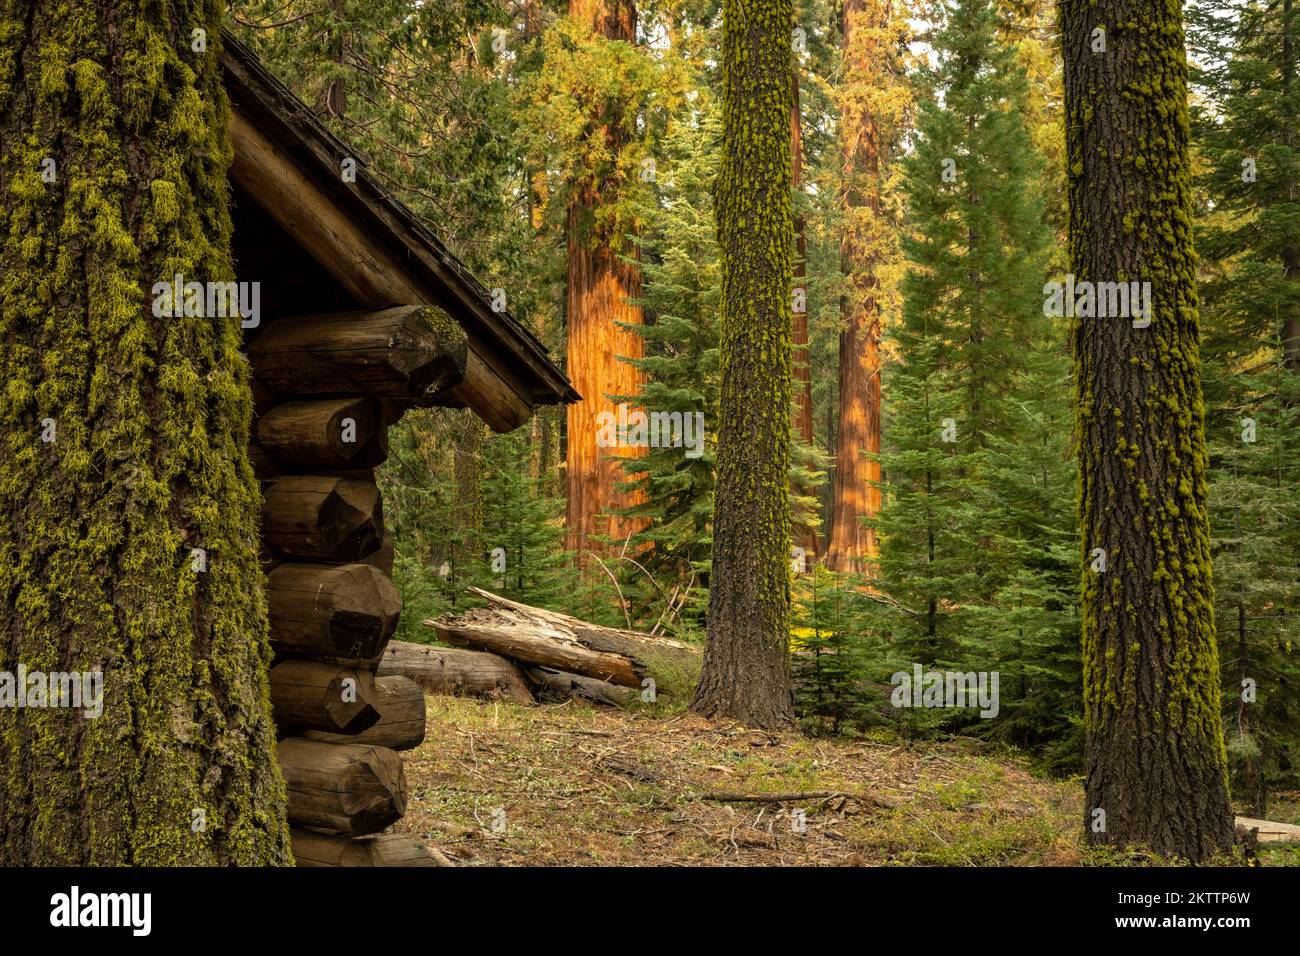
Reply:
<svg viewBox="0 0 1300 956"><path fill-rule="evenodd" d="M641 687L644 679L651 678L662 691L664 684L685 684L698 674L699 653L689 644L589 624L567 614L507 601L482 588L467 591L485 598L489 606L424 622L447 644L621 687Z"/></svg>

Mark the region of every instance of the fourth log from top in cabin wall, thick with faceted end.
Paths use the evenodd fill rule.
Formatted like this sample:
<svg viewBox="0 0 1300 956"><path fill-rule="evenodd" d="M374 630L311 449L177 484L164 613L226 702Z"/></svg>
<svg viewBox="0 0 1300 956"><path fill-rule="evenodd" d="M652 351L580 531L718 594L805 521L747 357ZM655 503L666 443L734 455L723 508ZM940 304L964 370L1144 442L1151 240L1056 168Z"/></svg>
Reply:
<svg viewBox="0 0 1300 956"><path fill-rule="evenodd" d="M266 604L276 653L348 661L377 658L402 614L398 589L369 564L280 564Z"/></svg>

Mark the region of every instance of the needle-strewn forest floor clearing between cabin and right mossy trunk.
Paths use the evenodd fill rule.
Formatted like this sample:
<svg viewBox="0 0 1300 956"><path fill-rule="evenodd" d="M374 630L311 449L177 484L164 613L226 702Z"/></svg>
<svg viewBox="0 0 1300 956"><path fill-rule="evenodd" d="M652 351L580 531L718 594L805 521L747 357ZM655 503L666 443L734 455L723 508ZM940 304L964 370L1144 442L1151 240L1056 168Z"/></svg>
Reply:
<svg viewBox="0 0 1300 956"><path fill-rule="evenodd" d="M410 805L396 829L460 865L1162 862L1084 847L1078 780L1044 778L971 739L803 737L686 714L434 696L428 721L425 743L403 754ZM727 793L802 796L718 799ZM1300 822L1300 800L1269 817ZM1264 851L1261 862L1300 865L1300 847Z"/></svg>

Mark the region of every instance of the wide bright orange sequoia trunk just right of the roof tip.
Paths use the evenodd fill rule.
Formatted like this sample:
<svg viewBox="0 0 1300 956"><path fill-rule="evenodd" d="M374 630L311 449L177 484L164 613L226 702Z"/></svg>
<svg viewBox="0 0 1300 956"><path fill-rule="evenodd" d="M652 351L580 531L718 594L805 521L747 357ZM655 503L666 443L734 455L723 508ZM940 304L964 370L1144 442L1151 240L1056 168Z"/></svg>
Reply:
<svg viewBox="0 0 1300 956"><path fill-rule="evenodd" d="M606 39L636 42L632 0L571 0L569 16ZM593 122L589 135L602 139L610 156L618 156L624 146L616 124ZM618 405L608 397L636 395L642 384L641 371L620 359L641 358L642 339L619 325L641 324L641 308L630 302L641 294L641 271L619 258L628 250L618 232L604 234L594 225L597 209L619 199L618 189L616 182L599 176L576 182L568 208L568 376L582 401L568 407L566 548L577 554L578 563L589 551L604 550L598 537L624 538L644 524L608 512L640 501L640 496L616 490L627 477L610 455L640 457L645 449L597 445L601 412L610 412L615 421L619 418Z"/></svg>

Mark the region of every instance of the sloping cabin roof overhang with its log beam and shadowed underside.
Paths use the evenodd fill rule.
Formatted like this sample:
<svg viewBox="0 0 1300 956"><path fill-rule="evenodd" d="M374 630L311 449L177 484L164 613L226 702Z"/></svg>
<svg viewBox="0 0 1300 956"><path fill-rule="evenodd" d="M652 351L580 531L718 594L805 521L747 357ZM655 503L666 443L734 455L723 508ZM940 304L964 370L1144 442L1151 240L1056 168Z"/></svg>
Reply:
<svg viewBox="0 0 1300 956"><path fill-rule="evenodd" d="M441 399L473 408L495 431L523 424L537 405L580 399L545 346L354 157L256 56L226 34L222 66L231 100L231 178L365 308L425 303L465 329L469 362ZM359 164L360 165L360 164Z"/></svg>

